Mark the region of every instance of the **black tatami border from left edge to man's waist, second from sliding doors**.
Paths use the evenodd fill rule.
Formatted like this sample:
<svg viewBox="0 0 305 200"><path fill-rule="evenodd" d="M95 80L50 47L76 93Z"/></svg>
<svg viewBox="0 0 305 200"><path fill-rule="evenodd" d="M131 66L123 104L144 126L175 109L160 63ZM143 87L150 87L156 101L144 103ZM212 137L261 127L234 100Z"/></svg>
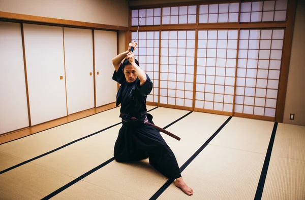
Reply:
<svg viewBox="0 0 305 200"><path fill-rule="evenodd" d="M155 108L153 108L153 109L148 110L147 112L150 112L150 111L152 111L152 110L154 110L154 109L157 109L157 108L158 108L158 106L155 107ZM22 163L19 163L19 164L15 165L15 166L12 166L12 167L10 167L10 168L8 168L8 169L5 169L5 170L1 171L0 174L3 174L3 173L5 173L5 172L8 172L8 171L10 171L10 170L13 170L13 169L15 169L15 168L17 168L17 167L20 167L20 166L22 166L22 165L24 165L24 164L27 164L27 163L29 163L29 162L32 162L32 161L34 161L35 159L38 159L38 158L40 158L40 157L43 157L43 156L48 155L48 154L50 154L50 153L53 153L53 152L55 152L55 151L57 151L57 150L59 150L59 149L65 148L65 147L67 147L67 146L69 146L69 145L71 145L71 144L74 144L75 142L78 142L78 141L80 141L80 140L86 139L86 138L88 138L88 137L94 136L94 135L96 135L96 134L98 134L98 133L101 133L101 132L103 132L103 131L106 131L107 129L110 129L110 128L112 128L112 127L115 127L115 126L117 126L117 125L119 125L119 124L121 124L121 122L120 122L120 123L117 123L117 124L115 124L115 125L112 125L112 126L110 126L110 127L107 127L107 128L105 128L105 129L102 129L102 130L100 130L100 131L98 131L98 132L95 132L95 133L93 133L93 134L90 134L90 135L84 136L84 137L82 137L82 138L79 138L79 139L77 139L77 140L74 140L74 141L72 141L72 142L69 142L69 143L67 143L67 144L65 144L65 145L63 145L63 146L60 146L60 147L58 147L58 148L55 148L55 149L53 149L53 150L51 150L51 151L48 151L48 152L46 152L46 153L44 153L44 154L41 154L41 155L38 155L38 156L33 157L33 158L31 158L31 159L28 159L27 161L24 161L24 162L22 162Z"/></svg>

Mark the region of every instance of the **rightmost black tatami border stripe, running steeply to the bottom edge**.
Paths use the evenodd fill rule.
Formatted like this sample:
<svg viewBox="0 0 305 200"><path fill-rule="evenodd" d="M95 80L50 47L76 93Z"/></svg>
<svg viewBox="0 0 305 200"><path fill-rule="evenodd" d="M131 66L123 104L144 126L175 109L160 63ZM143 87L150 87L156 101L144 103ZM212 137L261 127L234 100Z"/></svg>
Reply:
<svg viewBox="0 0 305 200"><path fill-rule="evenodd" d="M262 172L261 172L261 175L259 178L254 200L260 200L263 195L263 190L264 190L264 186L265 186L266 176L267 176L268 167L269 167L269 163L270 163L273 143L275 142L275 138L276 138L277 129L278 129L278 123L275 122L275 125L273 125L272 134L270 137L264 165L263 165Z"/></svg>

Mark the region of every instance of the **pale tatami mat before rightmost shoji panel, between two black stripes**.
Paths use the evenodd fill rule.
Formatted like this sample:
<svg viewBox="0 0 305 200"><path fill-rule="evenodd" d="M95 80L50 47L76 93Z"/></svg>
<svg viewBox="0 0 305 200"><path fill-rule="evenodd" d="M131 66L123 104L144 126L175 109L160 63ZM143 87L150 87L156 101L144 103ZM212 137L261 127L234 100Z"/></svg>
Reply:
<svg viewBox="0 0 305 200"><path fill-rule="evenodd" d="M266 154L274 124L232 117L209 144Z"/></svg>

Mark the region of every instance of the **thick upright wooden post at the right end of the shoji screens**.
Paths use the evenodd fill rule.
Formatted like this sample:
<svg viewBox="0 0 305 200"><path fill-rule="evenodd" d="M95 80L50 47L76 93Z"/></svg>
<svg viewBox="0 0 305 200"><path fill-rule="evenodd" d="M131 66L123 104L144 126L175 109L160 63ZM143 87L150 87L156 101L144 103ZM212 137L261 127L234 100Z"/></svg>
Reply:
<svg viewBox="0 0 305 200"><path fill-rule="evenodd" d="M284 120L284 109L285 109L285 101L286 101L296 5L297 5L297 0L290 0L287 10L287 28L284 36L282 66L280 72L280 84L279 84L279 93L278 93L277 110L276 110L276 122L279 123L283 123Z"/></svg>

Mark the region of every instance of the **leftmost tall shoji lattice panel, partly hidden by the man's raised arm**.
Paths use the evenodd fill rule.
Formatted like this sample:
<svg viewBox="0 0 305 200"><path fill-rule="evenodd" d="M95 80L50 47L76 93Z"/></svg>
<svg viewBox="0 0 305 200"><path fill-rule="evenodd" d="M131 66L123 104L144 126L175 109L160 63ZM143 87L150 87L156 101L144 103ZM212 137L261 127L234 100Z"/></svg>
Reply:
<svg viewBox="0 0 305 200"><path fill-rule="evenodd" d="M147 102L159 102L159 31L139 32L138 46L134 51L140 67L154 83L153 91L147 96ZM132 33L132 38L136 32Z"/></svg>

